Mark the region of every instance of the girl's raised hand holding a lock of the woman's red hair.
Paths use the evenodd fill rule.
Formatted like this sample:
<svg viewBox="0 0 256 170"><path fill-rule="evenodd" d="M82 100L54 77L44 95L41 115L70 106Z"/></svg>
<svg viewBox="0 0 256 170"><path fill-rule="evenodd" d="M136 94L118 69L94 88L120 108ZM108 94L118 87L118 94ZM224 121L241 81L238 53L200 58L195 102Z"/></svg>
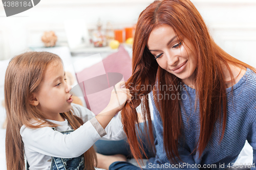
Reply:
<svg viewBox="0 0 256 170"><path fill-rule="evenodd" d="M128 103L132 100L132 94L129 89L121 88L121 86L125 85L125 82L119 82L114 86L114 89L111 92L110 103L107 108L109 110L115 110L115 114L122 110L126 101Z"/></svg>

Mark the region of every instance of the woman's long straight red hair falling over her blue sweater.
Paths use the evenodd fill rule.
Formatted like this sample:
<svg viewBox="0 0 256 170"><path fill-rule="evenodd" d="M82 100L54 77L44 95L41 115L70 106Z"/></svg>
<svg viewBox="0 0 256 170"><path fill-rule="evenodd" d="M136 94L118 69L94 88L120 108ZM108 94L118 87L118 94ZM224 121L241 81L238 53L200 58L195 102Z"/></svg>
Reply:
<svg viewBox="0 0 256 170"><path fill-rule="evenodd" d="M184 37L194 45L194 52L198 60L195 84L197 90L196 101L199 101L200 107L200 136L198 142L195 143L193 152L199 152L199 156L206 148L217 120L220 121L220 141L225 132L227 117L226 86L222 63L227 66L232 80L233 76L228 63L240 67L245 66L256 72L253 67L233 58L214 42L202 16L193 3L188 0L153 2L141 12L137 22L133 44L133 73L132 77L126 82L126 88L130 89L134 99L130 104L126 104L122 110L123 128L132 155L137 161L142 158L141 150L143 150L136 137L138 132L136 132L135 124L138 123L138 116L136 109L133 108L133 104L139 99L138 96L142 96L142 115L145 122L148 120L148 125L145 124L145 126L150 128L150 141L153 142L148 93L153 90L153 96L157 96L158 93L163 96L166 93L169 96L172 93L176 96L180 94L179 90L164 91L159 88L160 84L162 86L178 86L180 79L159 67L146 46L152 30L163 24L172 27L178 37ZM153 89L145 88L153 86L155 87ZM163 122L163 141L166 155L170 162L177 162L177 158L179 158L178 139L181 137L183 125L180 110L182 108L181 103L178 98L176 100L157 101L157 98L154 97L154 101Z"/></svg>

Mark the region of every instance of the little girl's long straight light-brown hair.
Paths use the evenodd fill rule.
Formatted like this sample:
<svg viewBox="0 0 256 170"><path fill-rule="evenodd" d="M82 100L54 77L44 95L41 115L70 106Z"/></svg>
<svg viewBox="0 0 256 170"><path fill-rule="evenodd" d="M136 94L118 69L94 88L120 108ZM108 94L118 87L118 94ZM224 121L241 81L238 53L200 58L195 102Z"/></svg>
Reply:
<svg viewBox="0 0 256 170"><path fill-rule="evenodd" d="M7 113L7 170L25 169L24 143L19 132L23 125L28 128L57 126L47 121L40 110L29 102L31 94L38 90L45 71L52 61L62 63L61 59L52 53L28 52L14 57L7 67L4 87ZM74 130L83 124L82 120L73 115L72 111L62 114ZM32 125L31 119L36 120L38 124ZM85 168L94 169L94 161L97 160L94 148L91 147L83 156Z"/></svg>

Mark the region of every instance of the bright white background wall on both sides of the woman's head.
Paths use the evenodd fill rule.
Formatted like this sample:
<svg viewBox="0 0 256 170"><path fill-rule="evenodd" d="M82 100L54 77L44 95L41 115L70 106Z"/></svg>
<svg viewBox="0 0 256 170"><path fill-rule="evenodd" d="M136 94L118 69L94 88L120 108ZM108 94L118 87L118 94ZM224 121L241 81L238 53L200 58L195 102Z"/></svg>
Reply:
<svg viewBox="0 0 256 170"><path fill-rule="evenodd" d="M115 27L136 23L140 12L151 0L41 0L34 8L12 17L4 17L0 5L0 59L24 52L31 45L42 45L44 31L53 30L58 44L67 37L64 20L83 19L89 29L98 18ZM256 67L256 1L193 0L216 42L234 57Z"/></svg>

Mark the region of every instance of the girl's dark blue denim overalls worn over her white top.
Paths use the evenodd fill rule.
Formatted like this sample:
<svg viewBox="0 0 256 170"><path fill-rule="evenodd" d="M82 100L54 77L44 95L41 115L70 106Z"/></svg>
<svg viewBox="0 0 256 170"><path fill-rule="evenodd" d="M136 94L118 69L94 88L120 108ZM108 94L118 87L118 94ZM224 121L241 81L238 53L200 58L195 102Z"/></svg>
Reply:
<svg viewBox="0 0 256 170"><path fill-rule="evenodd" d="M56 131L55 128L52 128ZM69 134L74 130L62 131L62 134ZM84 158L83 154L76 158L57 158L52 157L52 163L50 170L83 170L84 169ZM27 169L29 169L29 165L27 162Z"/></svg>

